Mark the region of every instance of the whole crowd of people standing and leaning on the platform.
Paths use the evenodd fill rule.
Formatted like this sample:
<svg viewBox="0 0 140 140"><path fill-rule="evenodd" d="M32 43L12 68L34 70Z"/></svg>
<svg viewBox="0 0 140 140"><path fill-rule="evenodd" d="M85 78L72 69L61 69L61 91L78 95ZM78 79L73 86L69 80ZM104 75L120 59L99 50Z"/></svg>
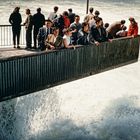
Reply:
<svg viewBox="0 0 140 140"><path fill-rule="evenodd" d="M14 48L20 48L20 30L22 17L16 7L9 17L12 25ZM80 16L73 13L70 8L58 15L59 7L55 6L47 18L41 13L41 8L37 8L37 13L32 15L30 9L26 9L27 18L23 25L26 29L26 48L54 50L62 48L75 48L76 45L96 44L111 41L114 38L138 35L138 23L133 17L129 18L130 25L125 26L125 20L104 23L100 17L100 12L94 8L89 9L89 14L80 22ZM32 46L32 31L33 44Z"/></svg>

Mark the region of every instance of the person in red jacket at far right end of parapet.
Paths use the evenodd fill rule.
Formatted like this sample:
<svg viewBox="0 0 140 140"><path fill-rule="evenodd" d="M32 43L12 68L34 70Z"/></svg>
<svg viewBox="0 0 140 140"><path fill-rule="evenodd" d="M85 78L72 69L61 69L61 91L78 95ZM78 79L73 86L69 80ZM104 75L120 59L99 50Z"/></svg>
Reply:
<svg viewBox="0 0 140 140"><path fill-rule="evenodd" d="M129 18L130 25L127 32L127 36L137 36L138 35L138 24L133 17Z"/></svg>

